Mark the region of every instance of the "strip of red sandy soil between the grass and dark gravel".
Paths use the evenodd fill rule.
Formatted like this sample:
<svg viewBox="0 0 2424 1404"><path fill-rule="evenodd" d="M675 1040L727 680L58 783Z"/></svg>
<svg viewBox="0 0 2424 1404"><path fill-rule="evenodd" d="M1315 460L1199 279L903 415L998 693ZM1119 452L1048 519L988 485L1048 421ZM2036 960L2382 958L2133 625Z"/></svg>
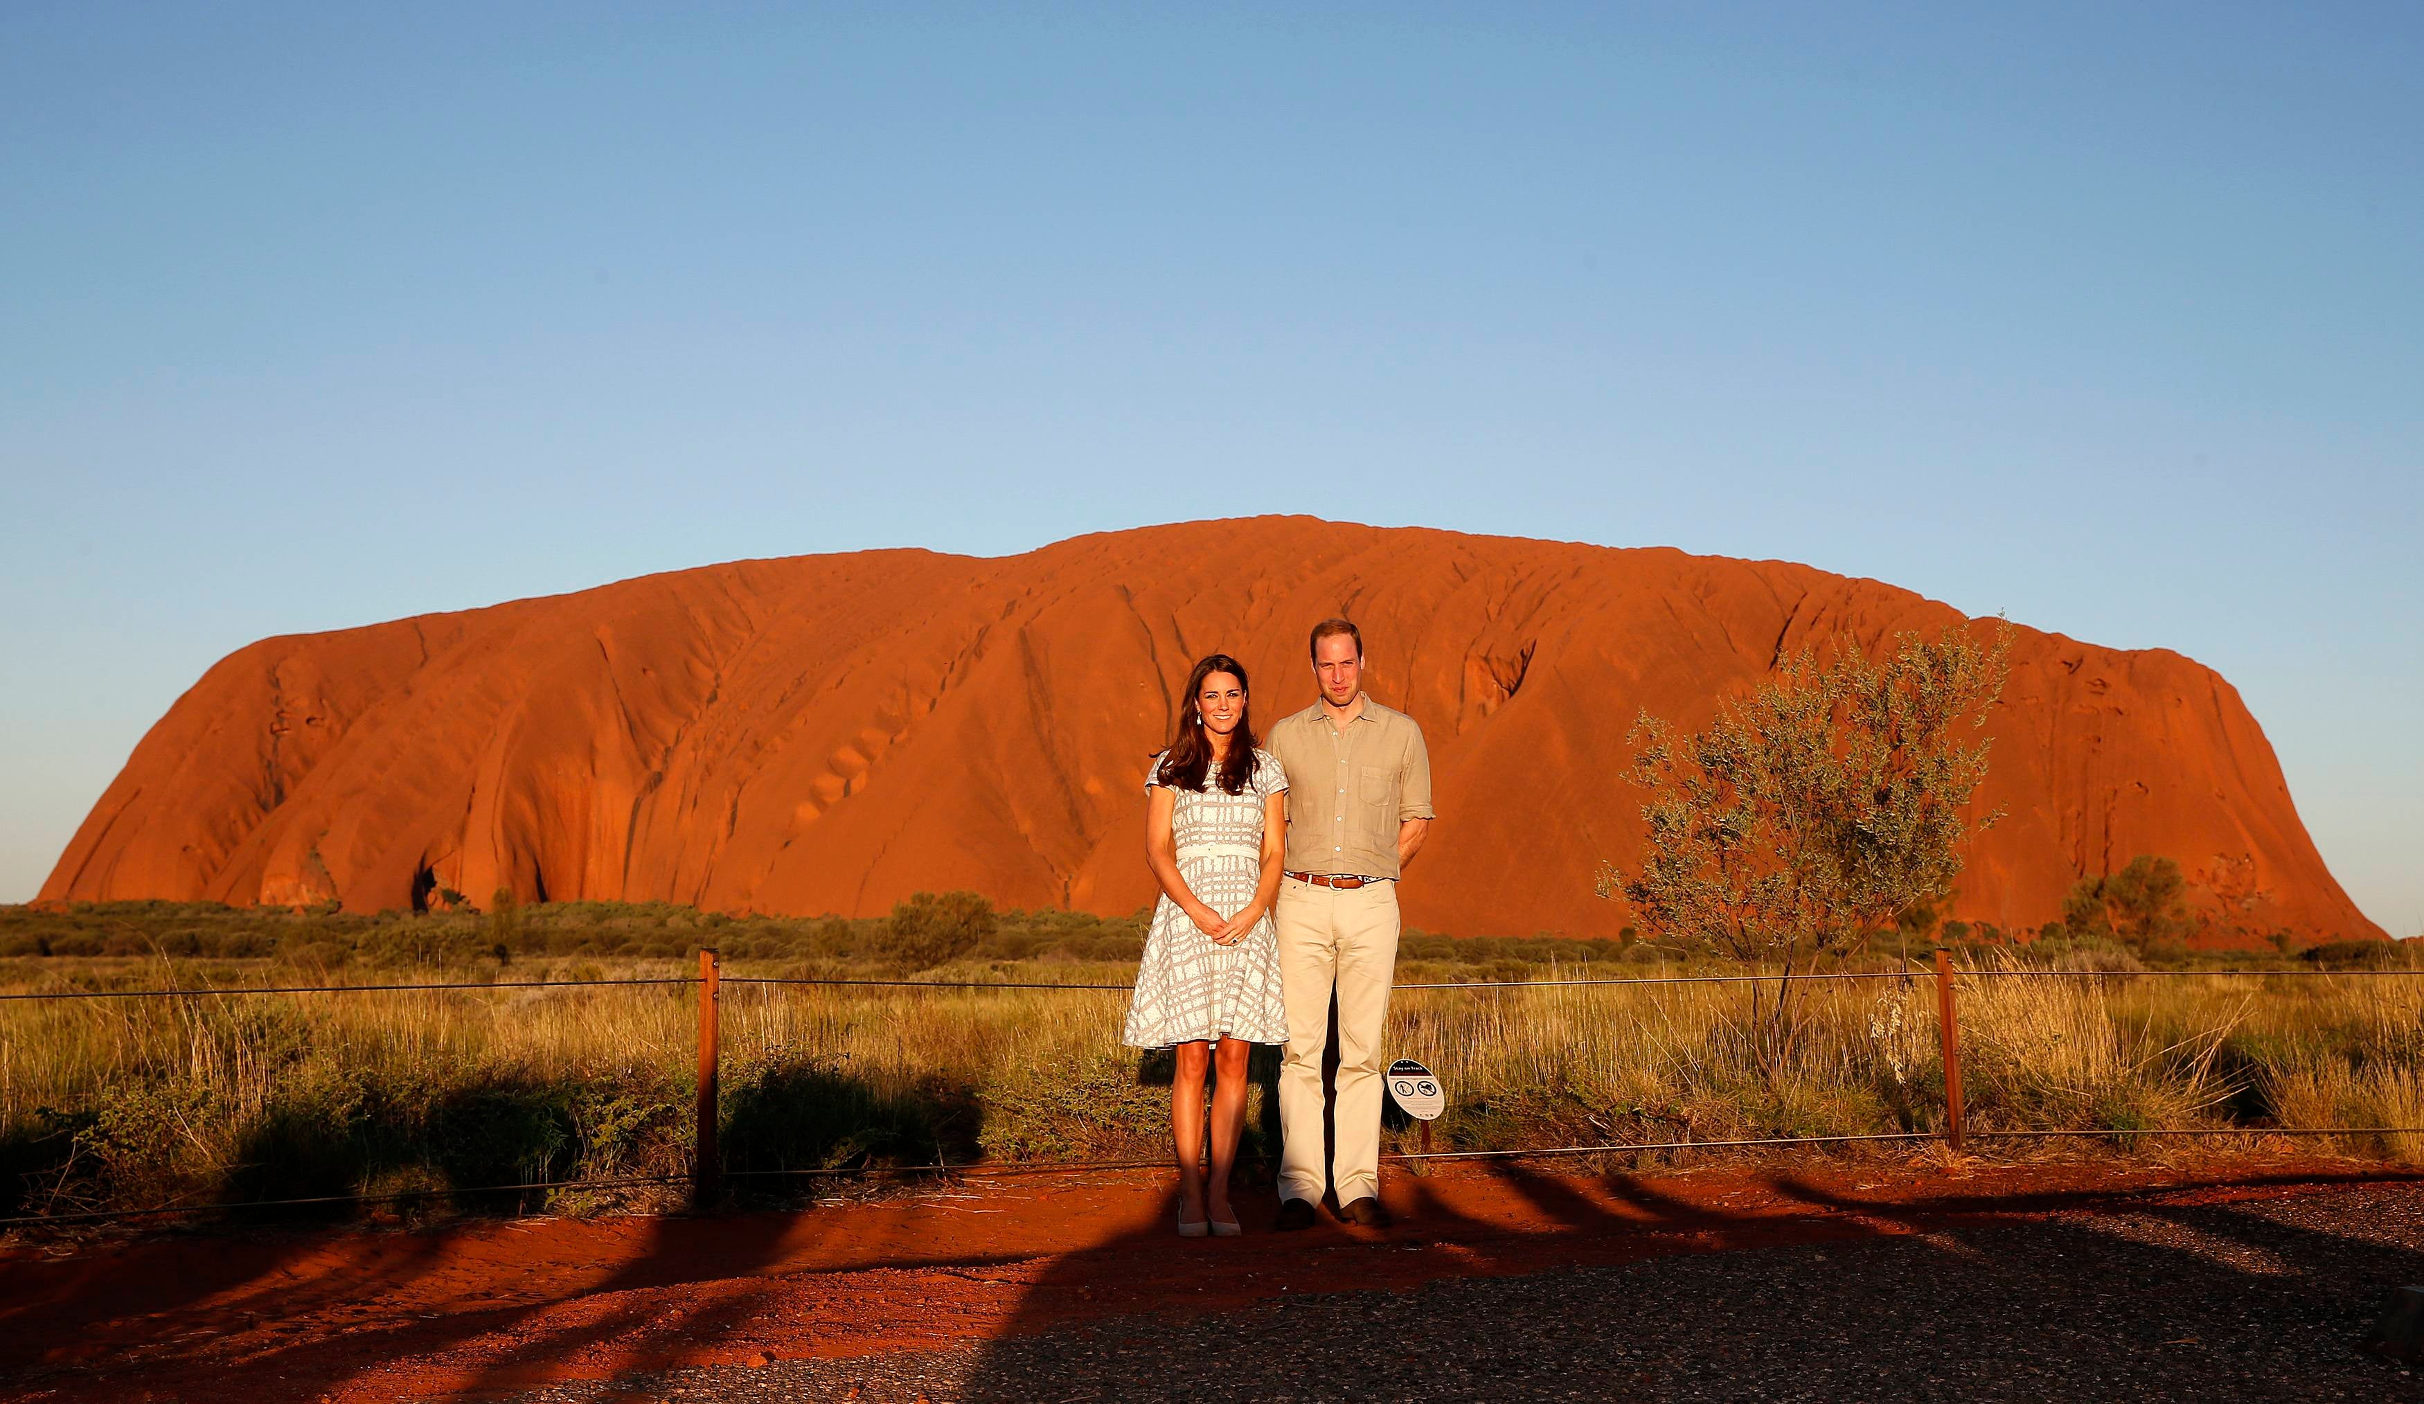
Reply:
<svg viewBox="0 0 2424 1404"><path fill-rule="evenodd" d="M2240 1203L2414 1171L1823 1164L1670 1176L1515 1169L1389 1181L1391 1229L1180 1242L1166 1176L1001 1176L781 1215L182 1234L0 1256L0 1385L22 1399L482 1397L635 1370L1001 1339L1280 1292L1396 1290L1665 1254L2148 1203Z"/></svg>

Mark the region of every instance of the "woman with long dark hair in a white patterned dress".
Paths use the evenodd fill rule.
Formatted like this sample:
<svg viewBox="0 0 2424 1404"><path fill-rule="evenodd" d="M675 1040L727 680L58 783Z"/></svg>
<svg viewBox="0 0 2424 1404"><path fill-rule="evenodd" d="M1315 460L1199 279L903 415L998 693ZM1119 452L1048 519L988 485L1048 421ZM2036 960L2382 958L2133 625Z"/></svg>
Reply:
<svg viewBox="0 0 2424 1404"><path fill-rule="evenodd" d="M1154 757L1144 793L1144 861L1161 883L1125 1043L1176 1048L1171 1140L1178 1149L1178 1237L1239 1232L1229 1166L1246 1123L1251 1043L1287 1043L1280 999L1280 895L1287 776L1253 749L1246 669L1214 652L1188 674L1178 735ZM1212 1089L1212 1183L1205 1186L1205 1067Z"/></svg>

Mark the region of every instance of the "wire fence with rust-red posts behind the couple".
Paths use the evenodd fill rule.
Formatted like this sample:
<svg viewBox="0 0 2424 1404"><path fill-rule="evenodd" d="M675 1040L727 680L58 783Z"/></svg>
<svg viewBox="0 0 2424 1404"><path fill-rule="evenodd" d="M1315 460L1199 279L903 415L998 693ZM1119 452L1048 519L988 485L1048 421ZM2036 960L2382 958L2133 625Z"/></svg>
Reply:
<svg viewBox="0 0 2424 1404"><path fill-rule="evenodd" d="M2424 968L2346 968L2346 970L2026 970L2026 968L2002 968L1980 970L1961 968L1951 963L1951 953L1934 951L1934 963L1922 968L1903 970L1830 970L1830 972L1753 972L1753 975L1622 975L1622 977L1578 977L1578 980L1442 980L1442 982L1403 982L1391 989L1566 989L1566 987L1622 987L1622 984L1782 984L1791 982L1837 982L1837 980L1932 980L1937 987L1937 1014L1939 1014L1939 1057L1944 1067L1944 1130L1913 1130L1913 1132L1866 1132L1866 1135L1791 1135L1791 1137L1748 1137L1748 1140L1663 1140L1663 1142L1602 1142L1602 1145L1542 1145L1542 1147L1517 1147L1517 1149L1428 1149L1428 1135L1423 1137L1425 1149L1418 1152L1391 1152L1382 1159L1389 1162L1467 1162L1467 1159L1532 1159L1532 1157L1573 1157L1573 1154L1634 1154L1634 1152L1680 1152L1680 1149L1765 1149L1765 1147L1823 1147L1823 1145L1862 1145L1862 1142L1944 1142L1951 1149L1963 1149L1971 1140L2041 1140L2041 1137L2206 1137L2206 1135L2283 1135L2283 1137L2346 1137L2346 1135L2424 1135L2424 1128L2414 1125L2376 1125L2376 1128L2150 1128L2150 1130L1968 1130L1961 1108L1961 1033L1959 1033L1959 1001L1956 987L1963 980L2167 980L2167 977L2259 977L2259 980L2366 980L2366 977L2424 977ZM1115 992L1127 994L1132 984L1091 984L1091 982L1045 982L1045 980L846 980L846 977L795 977L795 975L725 975L722 958L718 951L698 953L698 975L664 975L664 977L640 977L640 980L494 980L494 982L431 982L431 984L206 984L189 989L36 989L36 992L10 992L0 994L0 1001L68 1001L68 999L206 999L206 997L242 997L242 994L398 994L398 992L444 992L444 989L599 989L599 987L664 987L664 984L688 984L698 989L698 1103L693 1108L696 1125L696 1157L691 1174L686 1176L616 1176L616 1178L587 1178L587 1181L533 1181L511 1186L463 1186L463 1188L439 1188L439 1191L405 1191L383 1195L313 1195L313 1198L286 1198L286 1200L247 1200L247 1203L216 1203L216 1205L158 1205L145 1210L92 1210L73 1215L19 1215L0 1217L0 1229L12 1227L36 1227L36 1225L75 1225L75 1222L116 1222L116 1220L145 1220L145 1217L179 1217L179 1215L221 1215L221 1212L245 1212L245 1210L281 1210L281 1208L325 1208L325 1205L373 1205L373 1203L407 1203L429 1198L473 1198L473 1195L502 1195L502 1193L533 1193L533 1191L572 1191L572 1188L640 1188L640 1186L667 1186L688 1183L693 1200L701 1205L715 1203L725 1178L853 1178L853 1176L928 1176L928 1174L955 1174L974 1178L994 1176L1028 1176L1028 1174L1076 1174L1076 1171L1127 1171L1127 1169L1161 1169L1168 1157L1161 1159L1096 1159L1096 1162L943 1162L936 1164L894 1164L894 1166L817 1166L817 1169L734 1169L727 1171L720 1164L715 1132L720 1091L718 1079L722 1072L722 987L725 984L756 984L756 987L839 987L839 989L1067 989L1067 992ZM1423 1123L1428 1130L1428 1123Z"/></svg>

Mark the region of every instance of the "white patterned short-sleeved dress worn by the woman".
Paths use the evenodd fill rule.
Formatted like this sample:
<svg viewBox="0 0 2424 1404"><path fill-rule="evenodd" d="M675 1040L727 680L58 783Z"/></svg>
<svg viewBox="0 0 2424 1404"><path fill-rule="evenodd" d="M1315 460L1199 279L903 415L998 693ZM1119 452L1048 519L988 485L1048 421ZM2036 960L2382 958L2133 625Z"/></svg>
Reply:
<svg viewBox="0 0 2424 1404"><path fill-rule="evenodd" d="M1168 752L1164 752L1168 754ZM1144 788L1161 783L1161 757ZM1219 788L1217 774L1202 791L1171 788L1171 837L1178 841L1178 875L1207 907L1236 917L1253 902L1263 875L1263 815L1270 795L1287 788L1287 771L1270 752L1253 752L1246 793ZM1287 1001L1280 999L1280 931L1270 912L1236 946L1217 946L1171 902L1154 902L1154 929L1144 938L1137 992L1127 1001L1132 1048L1168 1048L1197 1038L1287 1043Z"/></svg>

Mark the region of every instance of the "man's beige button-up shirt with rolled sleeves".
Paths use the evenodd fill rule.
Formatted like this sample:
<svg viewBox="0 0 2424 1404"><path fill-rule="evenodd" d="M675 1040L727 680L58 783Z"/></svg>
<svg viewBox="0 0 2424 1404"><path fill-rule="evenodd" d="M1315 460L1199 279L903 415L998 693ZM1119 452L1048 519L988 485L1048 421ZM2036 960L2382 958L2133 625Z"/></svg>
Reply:
<svg viewBox="0 0 2424 1404"><path fill-rule="evenodd" d="M1270 754L1287 771L1287 868L1396 878L1396 827L1430 815L1430 752L1423 727L1362 698L1338 730L1321 703L1270 727Z"/></svg>

